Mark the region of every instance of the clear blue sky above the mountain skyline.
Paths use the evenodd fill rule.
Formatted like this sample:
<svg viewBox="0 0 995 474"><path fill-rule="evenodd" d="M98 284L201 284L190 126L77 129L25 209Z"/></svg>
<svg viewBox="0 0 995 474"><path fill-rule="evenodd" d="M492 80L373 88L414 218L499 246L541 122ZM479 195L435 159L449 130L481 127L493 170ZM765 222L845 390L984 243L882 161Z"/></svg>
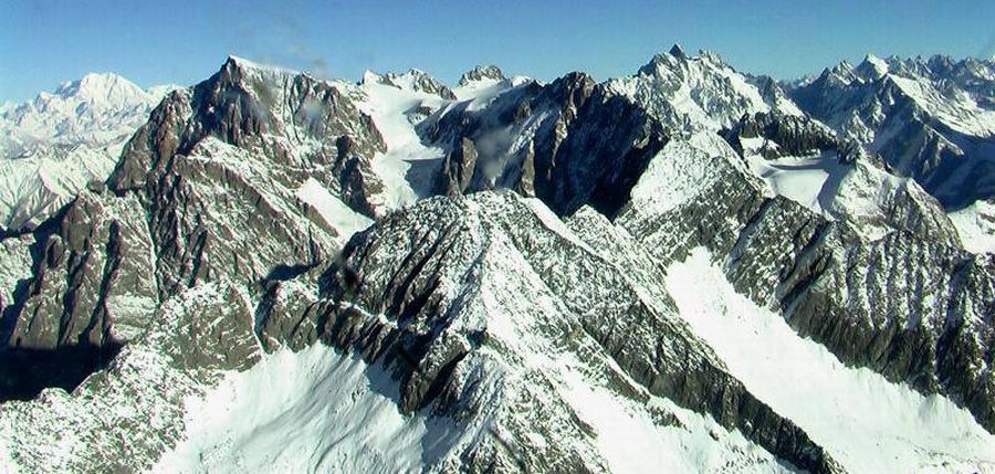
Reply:
<svg viewBox="0 0 995 474"><path fill-rule="evenodd" d="M985 1L2 0L0 101L86 72L192 84L228 54L348 80L474 64L552 80L630 74L674 42L778 78L878 55L995 54Z"/></svg>

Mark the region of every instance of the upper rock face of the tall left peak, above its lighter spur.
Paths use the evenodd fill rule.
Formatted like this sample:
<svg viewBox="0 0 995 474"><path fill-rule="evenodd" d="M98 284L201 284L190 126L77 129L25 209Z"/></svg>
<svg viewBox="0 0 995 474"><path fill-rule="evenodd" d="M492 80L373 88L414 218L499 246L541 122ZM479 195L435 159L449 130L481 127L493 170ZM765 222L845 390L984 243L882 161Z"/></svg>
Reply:
<svg viewBox="0 0 995 474"><path fill-rule="evenodd" d="M128 143L108 186L118 193L148 186L168 171L175 155L189 155L208 137L264 152L273 165L315 168L346 203L373 214L368 197L380 185L368 167L384 144L369 117L327 83L237 59L157 107Z"/></svg>

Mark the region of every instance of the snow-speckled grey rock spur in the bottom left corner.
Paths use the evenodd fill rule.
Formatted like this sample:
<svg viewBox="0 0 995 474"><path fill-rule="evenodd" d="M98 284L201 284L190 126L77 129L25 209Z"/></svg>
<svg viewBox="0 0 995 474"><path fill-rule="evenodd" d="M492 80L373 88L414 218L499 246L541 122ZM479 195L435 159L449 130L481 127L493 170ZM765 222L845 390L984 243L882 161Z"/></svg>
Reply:
<svg viewBox="0 0 995 474"><path fill-rule="evenodd" d="M224 282L165 301L143 334L72 394L45 390L3 405L0 426L18 440L14 459L38 472L147 471L182 439L186 398L259 360L248 310Z"/></svg>

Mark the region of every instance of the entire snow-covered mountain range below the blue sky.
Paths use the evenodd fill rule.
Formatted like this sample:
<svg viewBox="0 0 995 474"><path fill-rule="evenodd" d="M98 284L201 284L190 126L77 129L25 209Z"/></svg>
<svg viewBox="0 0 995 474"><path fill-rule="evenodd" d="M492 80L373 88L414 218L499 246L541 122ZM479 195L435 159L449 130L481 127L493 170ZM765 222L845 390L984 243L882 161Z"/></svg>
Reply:
<svg viewBox="0 0 995 474"><path fill-rule="evenodd" d="M995 472L991 61L0 117L0 471Z"/></svg>

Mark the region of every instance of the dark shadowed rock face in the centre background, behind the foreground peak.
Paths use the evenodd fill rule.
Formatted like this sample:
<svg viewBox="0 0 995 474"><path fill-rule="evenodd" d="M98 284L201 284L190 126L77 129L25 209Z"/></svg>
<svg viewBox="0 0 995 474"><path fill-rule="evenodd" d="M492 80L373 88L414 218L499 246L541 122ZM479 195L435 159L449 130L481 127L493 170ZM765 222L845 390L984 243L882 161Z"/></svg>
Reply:
<svg viewBox="0 0 995 474"><path fill-rule="evenodd" d="M443 191L520 189L559 214L584 204L617 212L667 140L640 107L583 73L530 83L482 109L448 110L425 128L433 141L452 144Z"/></svg>

